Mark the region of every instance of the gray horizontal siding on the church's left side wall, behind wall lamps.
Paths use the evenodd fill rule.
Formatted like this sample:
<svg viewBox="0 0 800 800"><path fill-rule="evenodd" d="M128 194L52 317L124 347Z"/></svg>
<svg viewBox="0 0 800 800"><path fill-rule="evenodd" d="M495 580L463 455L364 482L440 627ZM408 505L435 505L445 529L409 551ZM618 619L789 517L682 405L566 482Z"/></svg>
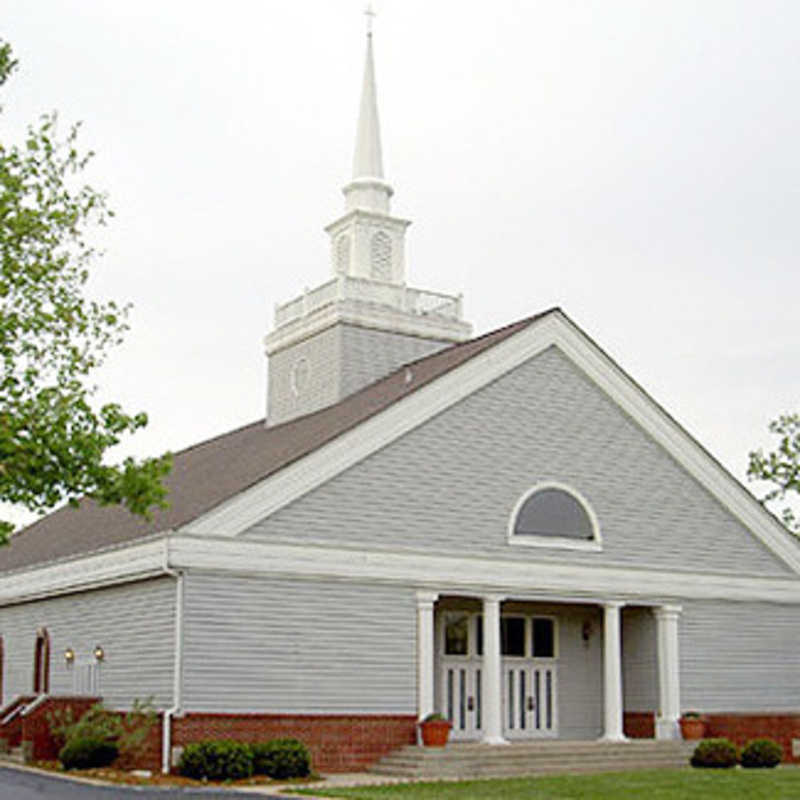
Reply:
<svg viewBox="0 0 800 800"><path fill-rule="evenodd" d="M159 707L172 703L175 581L157 578L62 595L0 608L5 653L3 702L33 688L36 631L50 635L50 692L73 691L73 670L64 660L71 648L76 663L92 661L96 645L105 651L101 692L111 708L152 696Z"/></svg>

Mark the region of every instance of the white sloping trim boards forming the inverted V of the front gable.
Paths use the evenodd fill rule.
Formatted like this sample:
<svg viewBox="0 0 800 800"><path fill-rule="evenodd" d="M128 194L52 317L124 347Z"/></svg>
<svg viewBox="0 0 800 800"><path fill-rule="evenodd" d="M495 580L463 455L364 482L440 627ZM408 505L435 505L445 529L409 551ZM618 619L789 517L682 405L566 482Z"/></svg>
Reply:
<svg viewBox="0 0 800 800"><path fill-rule="evenodd" d="M549 347L557 347L775 555L800 573L783 526L563 312L556 310L261 481L181 531L236 536Z"/></svg>

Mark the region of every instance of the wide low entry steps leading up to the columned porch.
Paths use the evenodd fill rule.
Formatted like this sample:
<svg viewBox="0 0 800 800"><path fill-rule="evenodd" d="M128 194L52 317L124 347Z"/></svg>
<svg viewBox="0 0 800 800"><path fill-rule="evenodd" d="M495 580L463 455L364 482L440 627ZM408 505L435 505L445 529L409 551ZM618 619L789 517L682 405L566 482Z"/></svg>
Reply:
<svg viewBox="0 0 800 800"><path fill-rule="evenodd" d="M447 747L409 746L385 756L369 771L395 778L509 778L573 772L617 772L683 767L691 742L633 739L626 742L536 741Z"/></svg>

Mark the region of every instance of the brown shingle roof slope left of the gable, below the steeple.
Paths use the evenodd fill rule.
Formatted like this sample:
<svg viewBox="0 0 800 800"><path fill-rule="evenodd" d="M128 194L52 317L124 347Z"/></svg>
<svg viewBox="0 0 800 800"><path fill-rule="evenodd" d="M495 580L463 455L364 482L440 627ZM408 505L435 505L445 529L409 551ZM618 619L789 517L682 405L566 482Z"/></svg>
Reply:
<svg viewBox="0 0 800 800"><path fill-rule="evenodd" d="M404 366L328 408L269 428L259 420L182 450L175 454L166 480L170 506L157 511L152 521L119 506L82 500L77 509L65 506L13 536L0 548L0 572L185 525L554 310L410 362L410 383Z"/></svg>

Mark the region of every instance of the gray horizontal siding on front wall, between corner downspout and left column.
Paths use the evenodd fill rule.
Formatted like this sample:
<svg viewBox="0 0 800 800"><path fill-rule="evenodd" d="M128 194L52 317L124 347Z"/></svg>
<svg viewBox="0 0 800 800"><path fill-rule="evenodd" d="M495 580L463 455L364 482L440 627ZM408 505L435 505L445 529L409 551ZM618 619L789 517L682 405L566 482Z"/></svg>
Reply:
<svg viewBox="0 0 800 800"><path fill-rule="evenodd" d="M411 589L189 573L189 711L403 713L416 707Z"/></svg>

